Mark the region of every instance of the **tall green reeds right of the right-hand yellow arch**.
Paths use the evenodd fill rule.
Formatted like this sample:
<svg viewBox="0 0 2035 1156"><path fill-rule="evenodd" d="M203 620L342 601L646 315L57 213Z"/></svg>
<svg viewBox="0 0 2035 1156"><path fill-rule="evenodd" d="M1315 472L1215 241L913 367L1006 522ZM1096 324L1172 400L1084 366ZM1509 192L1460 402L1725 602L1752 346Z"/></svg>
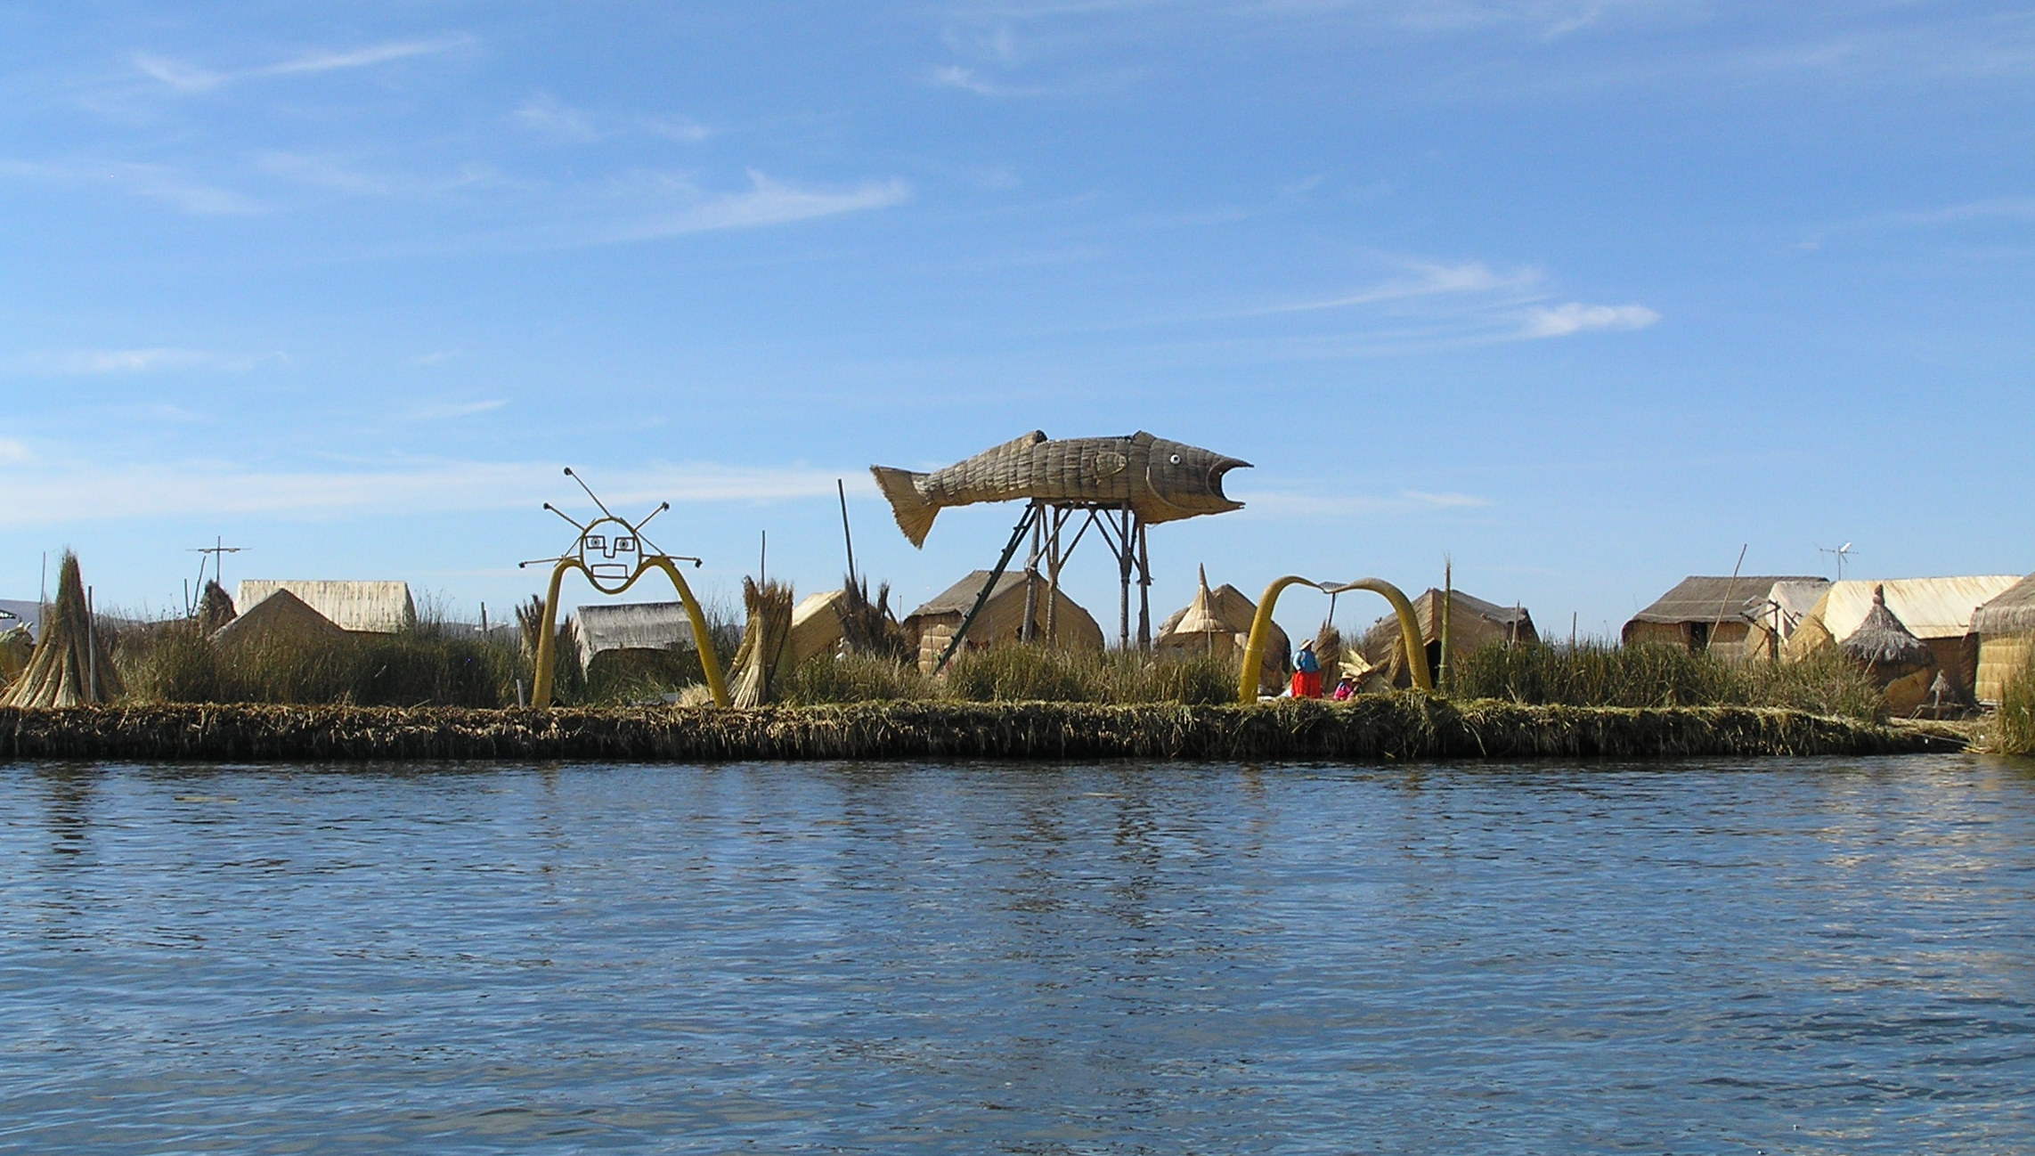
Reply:
<svg viewBox="0 0 2035 1156"><path fill-rule="evenodd" d="M1836 651L1797 663L1728 661L1677 645L1484 647L1455 661L1455 698L1567 706L1785 706L1880 718L1878 688Z"/></svg>

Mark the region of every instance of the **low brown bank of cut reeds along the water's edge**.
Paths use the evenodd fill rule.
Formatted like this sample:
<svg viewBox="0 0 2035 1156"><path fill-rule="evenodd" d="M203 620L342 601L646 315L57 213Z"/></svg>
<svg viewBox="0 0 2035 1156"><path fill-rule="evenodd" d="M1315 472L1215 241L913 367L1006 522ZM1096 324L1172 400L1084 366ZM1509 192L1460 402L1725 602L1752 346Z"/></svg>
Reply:
<svg viewBox="0 0 2035 1156"><path fill-rule="evenodd" d="M134 704L0 710L0 757L368 759L1536 759L1962 751L1952 727L1754 706L1528 706L1422 694L1258 706L863 702L562 708Z"/></svg>

